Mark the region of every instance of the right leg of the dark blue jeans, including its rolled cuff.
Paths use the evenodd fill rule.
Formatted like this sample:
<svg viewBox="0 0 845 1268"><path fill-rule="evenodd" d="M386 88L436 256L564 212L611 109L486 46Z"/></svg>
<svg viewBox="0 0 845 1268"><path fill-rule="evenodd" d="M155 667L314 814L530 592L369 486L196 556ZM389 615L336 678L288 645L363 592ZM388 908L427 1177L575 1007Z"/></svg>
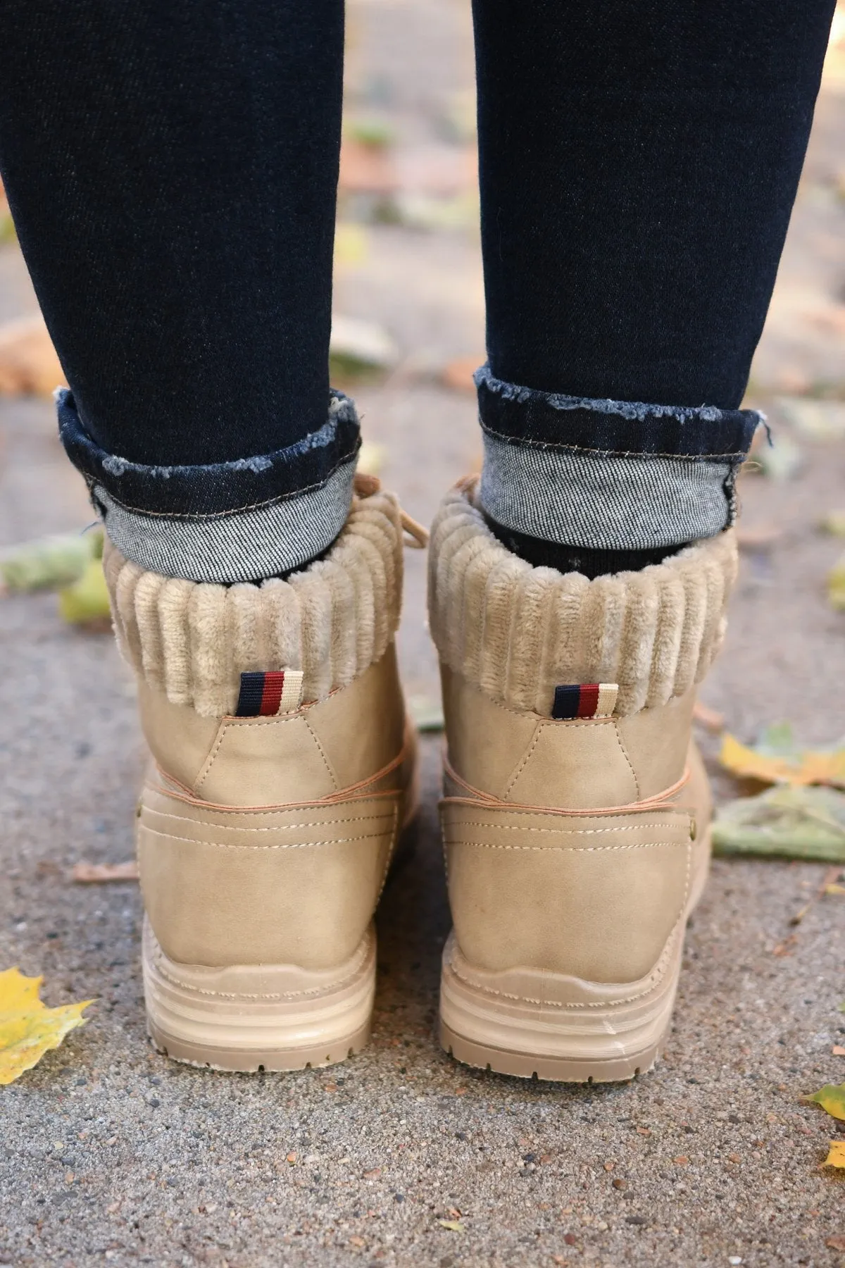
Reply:
<svg viewBox="0 0 845 1268"><path fill-rule="evenodd" d="M832 11L474 0L494 531L654 552L732 521Z"/></svg>

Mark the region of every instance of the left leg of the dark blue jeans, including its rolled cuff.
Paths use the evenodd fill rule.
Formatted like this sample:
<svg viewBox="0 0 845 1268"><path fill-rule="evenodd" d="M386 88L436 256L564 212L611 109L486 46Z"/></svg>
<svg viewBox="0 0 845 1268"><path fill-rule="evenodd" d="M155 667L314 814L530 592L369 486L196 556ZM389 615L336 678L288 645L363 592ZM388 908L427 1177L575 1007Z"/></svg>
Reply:
<svg viewBox="0 0 845 1268"><path fill-rule="evenodd" d="M342 0L3 6L0 169L71 385L62 437L144 567L257 578L346 517L342 68Z"/></svg>

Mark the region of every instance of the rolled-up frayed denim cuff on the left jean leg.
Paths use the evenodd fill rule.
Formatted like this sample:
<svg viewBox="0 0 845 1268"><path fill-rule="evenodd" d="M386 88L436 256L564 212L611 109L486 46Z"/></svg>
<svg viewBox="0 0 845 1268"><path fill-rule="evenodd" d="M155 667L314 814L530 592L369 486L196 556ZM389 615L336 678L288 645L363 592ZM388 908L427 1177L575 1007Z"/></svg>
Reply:
<svg viewBox="0 0 845 1268"><path fill-rule="evenodd" d="M125 559L186 581L255 581L326 550L352 501L361 444L355 403L333 392L318 430L271 454L149 467L101 449L73 396L56 396L58 431L110 540Z"/></svg>

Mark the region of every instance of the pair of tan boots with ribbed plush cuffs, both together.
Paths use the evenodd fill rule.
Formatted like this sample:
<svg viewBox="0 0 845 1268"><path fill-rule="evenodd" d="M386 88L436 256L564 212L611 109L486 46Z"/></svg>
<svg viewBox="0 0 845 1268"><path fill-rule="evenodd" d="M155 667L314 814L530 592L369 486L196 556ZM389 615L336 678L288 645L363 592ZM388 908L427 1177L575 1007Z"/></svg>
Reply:
<svg viewBox="0 0 845 1268"><path fill-rule="evenodd" d="M106 545L152 753L138 804L149 1033L177 1060L293 1070L370 1033L372 914L417 804L397 673L403 515L359 478L328 554L231 587ZM431 536L454 932L441 1041L461 1061L628 1079L665 1038L709 803L690 744L732 533L639 573L533 568L476 482Z"/></svg>

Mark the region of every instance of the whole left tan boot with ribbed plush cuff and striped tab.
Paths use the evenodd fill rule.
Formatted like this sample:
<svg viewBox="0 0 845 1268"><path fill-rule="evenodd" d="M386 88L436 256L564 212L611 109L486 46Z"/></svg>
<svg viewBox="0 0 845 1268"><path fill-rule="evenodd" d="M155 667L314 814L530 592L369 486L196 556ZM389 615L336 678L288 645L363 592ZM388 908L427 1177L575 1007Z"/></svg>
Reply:
<svg viewBox="0 0 845 1268"><path fill-rule="evenodd" d="M105 571L153 757L138 804L152 1040L227 1070L343 1060L369 1038L372 913L414 809L397 500L356 497L289 581L165 578L108 544Z"/></svg>

